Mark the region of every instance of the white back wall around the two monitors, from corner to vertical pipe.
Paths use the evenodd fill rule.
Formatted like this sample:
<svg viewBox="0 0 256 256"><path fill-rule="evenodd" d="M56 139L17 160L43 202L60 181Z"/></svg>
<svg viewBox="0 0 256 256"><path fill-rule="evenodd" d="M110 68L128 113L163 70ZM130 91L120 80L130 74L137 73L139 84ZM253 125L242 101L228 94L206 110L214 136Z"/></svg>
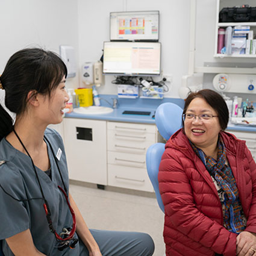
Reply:
<svg viewBox="0 0 256 256"><path fill-rule="evenodd" d="M101 57L103 42L110 40L111 11L140 10L160 11L162 69L163 73L173 75L173 86L166 96L178 98L181 76L186 75L188 70L189 0L78 0L80 66L85 61L97 61ZM99 87L99 93L117 93L112 80L114 76L105 76L105 86Z"/></svg>

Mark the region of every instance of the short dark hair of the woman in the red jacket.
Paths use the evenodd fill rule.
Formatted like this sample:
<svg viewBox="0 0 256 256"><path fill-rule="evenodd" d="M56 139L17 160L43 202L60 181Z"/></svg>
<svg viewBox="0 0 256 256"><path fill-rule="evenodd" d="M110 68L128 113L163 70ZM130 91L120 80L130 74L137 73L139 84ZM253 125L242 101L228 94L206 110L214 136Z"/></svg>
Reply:
<svg viewBox="0 0 256 256"><path fill-rule="evenodd" d="M183 114L186 113L190 102L192 102L195 98L204 99L217 112L220 127L224 131L226 129L226 126L228 126L229 112L223 97L219 95L219 93L214 92L214 90L210 89L199 90L198 92L191 92L185 100Z"/></svg>

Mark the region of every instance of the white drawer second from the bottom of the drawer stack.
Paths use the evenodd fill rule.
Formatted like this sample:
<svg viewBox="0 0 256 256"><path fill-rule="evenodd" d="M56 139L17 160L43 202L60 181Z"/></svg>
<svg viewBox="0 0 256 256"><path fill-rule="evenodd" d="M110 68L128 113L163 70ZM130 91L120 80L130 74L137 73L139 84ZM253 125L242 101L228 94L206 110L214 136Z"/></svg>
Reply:
<svg viewBox="0 0 256 256"><path fill-rule="evenodd" d="M108 164L146 168L146 155L108 151Z"/></svg>

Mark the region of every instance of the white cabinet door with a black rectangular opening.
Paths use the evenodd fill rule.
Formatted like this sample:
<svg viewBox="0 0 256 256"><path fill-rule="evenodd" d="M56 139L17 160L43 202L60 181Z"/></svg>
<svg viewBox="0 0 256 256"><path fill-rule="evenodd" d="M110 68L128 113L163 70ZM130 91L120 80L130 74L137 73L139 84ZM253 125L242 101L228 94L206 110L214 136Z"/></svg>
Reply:
<svg viewBox="0 0 256 256"><path fill-rule="evenodd" d="M107 185L106 121L66 118L64 141L69 178Z"/></svg>

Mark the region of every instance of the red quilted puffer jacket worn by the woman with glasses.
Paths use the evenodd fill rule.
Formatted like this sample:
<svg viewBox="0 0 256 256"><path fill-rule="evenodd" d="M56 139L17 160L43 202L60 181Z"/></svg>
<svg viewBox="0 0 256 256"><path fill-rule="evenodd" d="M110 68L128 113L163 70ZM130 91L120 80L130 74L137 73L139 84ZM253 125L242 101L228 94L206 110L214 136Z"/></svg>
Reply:
<svg viewBox="0 0 256 256"><path fill-rule="evenodd" d="M246 231L256 233L256 164L245 141L225 132L220 135L247 218ZM158 180L166 256L236 255L237 235L223 227L216 187L183 130L166 143Z"/></svg>

